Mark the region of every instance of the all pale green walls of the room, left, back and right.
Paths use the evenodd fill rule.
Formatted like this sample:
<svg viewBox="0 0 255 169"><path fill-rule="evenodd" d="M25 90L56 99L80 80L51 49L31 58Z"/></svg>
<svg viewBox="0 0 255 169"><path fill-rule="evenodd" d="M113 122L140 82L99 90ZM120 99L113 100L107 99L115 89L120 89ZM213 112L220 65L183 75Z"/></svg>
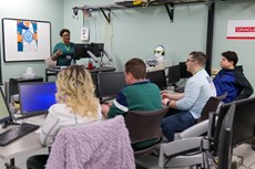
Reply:
<svg viewBox="0 0 255 169"><path fill-rule="evenodd" d="M79 20L73 19L72 8L83 4L109 4L114 0L0 0L0 19L21 18L45 20L52 23L52 45L60 41L59 30L63 27L72 32L73 42L80 40L80 29L83 27L82 13ZM215 7L215 32L213 46L213 68L220 68L221 53L234 50L239 55L239 64L244 65L245 74L255 86L254 40L226 40L228 20L254 19L255 3L253 0L242 2L218 2ZM40 7L40 8L34 8ZM163 44L166 59L174 63L185 61L193 50L205 51L207 6L204 3L175 6L174 22L171 23L164 7L136 8L112 11L110 24L101 12L93 12L84 19L84 25L90 28L89 42L104 42L106 51L113 56L118 70L123 70L126 60L133 56L153 59L154 47ZM0 28L2 31L2 28ZM0 33L1 57L2 33ZM37 75L44 76L43 62L2 63L3 81L9 77L20 77L28 66L32 66ZM81 60L86 63L86 60Z"/></svg>

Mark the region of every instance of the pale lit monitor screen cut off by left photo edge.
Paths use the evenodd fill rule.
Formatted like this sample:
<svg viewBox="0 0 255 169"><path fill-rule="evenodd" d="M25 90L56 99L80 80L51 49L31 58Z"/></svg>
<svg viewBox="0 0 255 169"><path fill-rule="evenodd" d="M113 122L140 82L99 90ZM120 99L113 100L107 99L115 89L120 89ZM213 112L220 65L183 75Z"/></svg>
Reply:
<svg viewBox="0 0 255 169"><path fill-rule="evenodd" d="M0 91L0 123L2 124L11 120L12 118L1 87Z"/></svg>

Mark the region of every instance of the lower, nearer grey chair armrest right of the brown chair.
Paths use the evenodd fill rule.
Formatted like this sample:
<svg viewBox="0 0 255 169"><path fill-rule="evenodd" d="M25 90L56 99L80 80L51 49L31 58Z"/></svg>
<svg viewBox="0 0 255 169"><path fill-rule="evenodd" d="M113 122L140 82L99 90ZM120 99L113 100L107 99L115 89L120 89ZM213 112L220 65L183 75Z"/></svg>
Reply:
<svg viewBox="0 0 255 169"><path fill-rule="evenodd" d="M159 166L164 167L167 156L171 158L171 156L180 156L182 152L185 154L188 150L200 148L202 140L203 137L192 137L174 140L167 144L161 144Z"/></svg>

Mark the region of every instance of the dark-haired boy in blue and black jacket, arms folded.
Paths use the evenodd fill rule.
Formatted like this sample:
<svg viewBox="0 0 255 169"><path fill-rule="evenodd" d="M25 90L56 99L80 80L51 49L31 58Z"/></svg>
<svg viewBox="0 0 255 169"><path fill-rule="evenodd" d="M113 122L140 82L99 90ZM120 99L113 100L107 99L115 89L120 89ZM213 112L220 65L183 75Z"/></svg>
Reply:
<svg viewBox="0 0 255 169"><path fill-rule="evenodd" d="M214 78L217 96L227 92L224 103L247 98L253 94L253 87L243 74L243 68L236 66L238 56L233 51L222 53L221 67Z"/></svg>

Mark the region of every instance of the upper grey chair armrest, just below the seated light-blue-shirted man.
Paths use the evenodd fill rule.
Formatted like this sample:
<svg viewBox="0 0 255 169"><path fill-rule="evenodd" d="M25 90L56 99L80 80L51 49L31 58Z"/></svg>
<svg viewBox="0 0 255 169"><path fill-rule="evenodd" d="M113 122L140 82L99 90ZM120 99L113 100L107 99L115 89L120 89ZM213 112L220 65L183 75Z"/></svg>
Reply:
<svg viewBox="0 0 255 169"><path fill-rule="evenodd" d="M190 137L198 137L208 130L208 119L201 122L182 133L177 133L174 135L174 140L183 139L183 138L190 138Z"/></svg>

